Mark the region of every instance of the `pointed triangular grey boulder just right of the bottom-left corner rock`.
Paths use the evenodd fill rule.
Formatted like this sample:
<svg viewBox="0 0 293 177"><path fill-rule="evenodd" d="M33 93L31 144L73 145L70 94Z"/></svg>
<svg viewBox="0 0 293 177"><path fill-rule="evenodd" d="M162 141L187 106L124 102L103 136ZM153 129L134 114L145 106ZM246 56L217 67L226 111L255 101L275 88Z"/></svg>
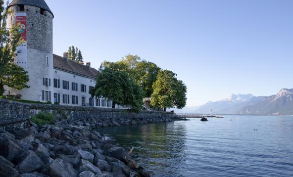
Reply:
<svg viewBox="0 0 293 177"><path fill-rule="evenodd" d="M20 156L22 160L18 163L16 169L21 173L37 171L44 166L42 160L33 151L28 151Z"/></svg>

